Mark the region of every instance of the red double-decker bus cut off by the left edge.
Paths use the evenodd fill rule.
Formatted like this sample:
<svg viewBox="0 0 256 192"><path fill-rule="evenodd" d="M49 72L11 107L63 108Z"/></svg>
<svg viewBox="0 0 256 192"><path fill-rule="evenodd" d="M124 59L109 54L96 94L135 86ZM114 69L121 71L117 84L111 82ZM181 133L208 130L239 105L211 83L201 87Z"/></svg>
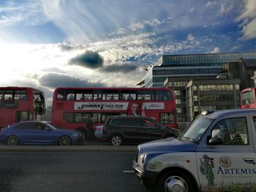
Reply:
<svg viewBox="0 0 256 192"><path fill-rule="evenodd" d="M0 87L0 128L22 120L44 120L45 95L35 88Z"/></svg>

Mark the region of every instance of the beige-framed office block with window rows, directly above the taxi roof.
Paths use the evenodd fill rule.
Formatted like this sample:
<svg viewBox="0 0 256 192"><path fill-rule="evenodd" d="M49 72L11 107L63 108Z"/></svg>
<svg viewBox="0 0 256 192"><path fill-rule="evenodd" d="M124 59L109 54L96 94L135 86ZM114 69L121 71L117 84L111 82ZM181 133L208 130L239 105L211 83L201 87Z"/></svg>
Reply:
<svg viewBox="0 0 256 192"><path fill-rule="evenodd" d="M240 84L238 78L187 82L187 121L192 121L201 110L239 108Z"/></svg>

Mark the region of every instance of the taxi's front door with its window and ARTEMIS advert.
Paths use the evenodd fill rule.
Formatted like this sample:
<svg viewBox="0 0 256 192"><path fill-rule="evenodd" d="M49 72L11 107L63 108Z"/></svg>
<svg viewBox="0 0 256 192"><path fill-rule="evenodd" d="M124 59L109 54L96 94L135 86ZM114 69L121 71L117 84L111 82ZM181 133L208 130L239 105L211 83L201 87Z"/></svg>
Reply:
<svg viewBox="0 0 256 192"><path fill-rule="evenodd" d="M255 119L256 120L256 119ZM256 191L256 155L252 118L219 120L197 147L197 175L202 191ZM219 142L208 144L209 136Z"/></svg>

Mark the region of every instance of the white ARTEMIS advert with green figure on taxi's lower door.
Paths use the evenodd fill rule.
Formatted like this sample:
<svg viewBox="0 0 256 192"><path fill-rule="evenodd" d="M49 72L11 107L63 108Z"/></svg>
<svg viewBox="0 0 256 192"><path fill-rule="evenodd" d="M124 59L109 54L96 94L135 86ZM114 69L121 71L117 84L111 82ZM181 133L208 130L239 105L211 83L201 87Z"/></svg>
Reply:
<svg viewBox="0 0 256 192"><path fill-rule="evenodd" d="M252 181L256 169L232 168L231 159L227 156L220 156L217 161L215 160L208 155L200 158L200 173L207 180L207 185L201 182L203 191L212 191L214 188L217 191L256 191L256 183ZM255 162L246 164L255 165Z"/></svg>

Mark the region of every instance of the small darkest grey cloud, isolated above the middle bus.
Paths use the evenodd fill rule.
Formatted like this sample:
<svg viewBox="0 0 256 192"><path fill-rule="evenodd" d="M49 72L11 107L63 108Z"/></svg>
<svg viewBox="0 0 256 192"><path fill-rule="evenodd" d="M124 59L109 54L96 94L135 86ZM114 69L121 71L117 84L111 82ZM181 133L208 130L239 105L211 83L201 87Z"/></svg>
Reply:
<svg viewBox="0 0 256 192"><path fill-rule="evenodd" d="M79 65L90 69L97 69L102 67L103 58L97 52L86 51L86 53L77 55L75 58L70 59L69 65Z"/></svg>

